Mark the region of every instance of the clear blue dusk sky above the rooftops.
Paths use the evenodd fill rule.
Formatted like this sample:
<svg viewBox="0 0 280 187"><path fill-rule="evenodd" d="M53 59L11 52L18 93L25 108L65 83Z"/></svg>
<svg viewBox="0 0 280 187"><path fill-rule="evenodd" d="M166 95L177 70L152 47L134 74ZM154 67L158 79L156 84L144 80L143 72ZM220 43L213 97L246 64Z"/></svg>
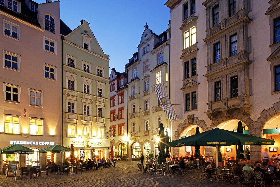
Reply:
<svg viewBox="0 0 280 187"><path fill-rule="evenodd" d="M168 29L170 9L164 5L166 1L60 0L60 19L72 30L82 19L89 22L99 45L110 56L110 69L124 72L124 65L137 52L146 22L157 35Z"/></svg>

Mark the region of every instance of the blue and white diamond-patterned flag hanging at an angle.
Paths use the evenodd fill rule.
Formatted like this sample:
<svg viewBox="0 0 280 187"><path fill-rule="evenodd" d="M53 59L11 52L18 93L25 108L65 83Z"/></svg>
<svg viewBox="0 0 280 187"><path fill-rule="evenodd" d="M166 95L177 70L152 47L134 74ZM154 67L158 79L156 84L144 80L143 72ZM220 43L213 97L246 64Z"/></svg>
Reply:
<svg viewBox="0 0 280 187"><path fill-rule="evenodd" d="M155 91L156 91L156 94L157 94L157 97L160 101L160 105L162 106L165 114L167 115L168 119L170 121L173 121L173 120L178 120L178 116L176 115L171 103L170 103L170 100L169 100L169 97L167 95L167 92L166 92L166 89L165 89L165 83L162 82L162 83L159 83L155 86L153 86L155 88Z"/></svg>

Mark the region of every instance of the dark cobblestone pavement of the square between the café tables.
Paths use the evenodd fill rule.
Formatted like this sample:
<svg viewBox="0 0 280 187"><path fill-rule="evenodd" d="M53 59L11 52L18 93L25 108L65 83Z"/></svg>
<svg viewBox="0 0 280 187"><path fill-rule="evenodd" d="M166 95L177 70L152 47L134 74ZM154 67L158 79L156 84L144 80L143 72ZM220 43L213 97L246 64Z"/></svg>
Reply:
<svg viewBox="0 0 280 187"><path fill-rule="evenodd" d="M73 175L43 174L43 177L16 179L0 175L0 187L22 187L22 186L44 186L44 187L71 187L71 186L240 186L241 184L215 181L203 181L200 178L200 171L195 170L178 176L137 174L136 161L119 161L116 168L102 168L102 170L83 171Z"/></svg>

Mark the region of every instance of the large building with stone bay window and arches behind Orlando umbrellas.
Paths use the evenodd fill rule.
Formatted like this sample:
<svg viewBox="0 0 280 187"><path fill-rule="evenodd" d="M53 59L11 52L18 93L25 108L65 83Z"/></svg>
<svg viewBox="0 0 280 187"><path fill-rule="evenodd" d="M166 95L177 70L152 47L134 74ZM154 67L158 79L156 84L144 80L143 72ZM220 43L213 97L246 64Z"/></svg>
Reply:
<svg viewBox="0 0 280 187"><path fill-rule="evenodd" d="M174 106L180 119L172 122L172 140L193 135L197 126L201 132L232 131L241 120L244 132L276 140L250 146L251 160L260 160L265 147L279 146L279 2L165 3L171 8L171 103L181 104ZM194 149L172 151L184 156ZM236 156L236 146L222 152ZM214 156L212 147L201 147L201 153Z"/></svg>

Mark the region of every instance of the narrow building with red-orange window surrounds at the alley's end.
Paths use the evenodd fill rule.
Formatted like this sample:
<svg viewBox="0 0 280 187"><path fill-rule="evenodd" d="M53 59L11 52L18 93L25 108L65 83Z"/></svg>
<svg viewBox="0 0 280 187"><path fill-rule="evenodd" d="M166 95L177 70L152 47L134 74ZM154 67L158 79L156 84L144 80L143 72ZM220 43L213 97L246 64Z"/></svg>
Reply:
<svg viewBox="0 0 280 187"><path fill-rule="evenodd" d="M110 129L111 146L117 152L114 156L127 159L127 79L126 72L110 74Z"/></svg>

